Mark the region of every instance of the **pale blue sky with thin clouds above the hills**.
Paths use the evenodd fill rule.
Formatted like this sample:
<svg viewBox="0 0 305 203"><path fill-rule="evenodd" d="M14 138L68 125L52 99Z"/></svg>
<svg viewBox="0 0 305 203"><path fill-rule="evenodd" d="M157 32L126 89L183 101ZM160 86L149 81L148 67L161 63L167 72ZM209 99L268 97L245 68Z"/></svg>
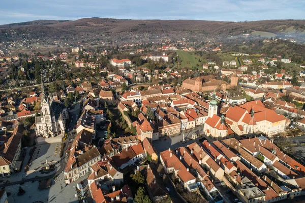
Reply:
<svg viewBox="0 0 305 203"><path fill-rule="evenodd" d="M1 0L0 24L32 20L305 19L305 0Z"/></svg>

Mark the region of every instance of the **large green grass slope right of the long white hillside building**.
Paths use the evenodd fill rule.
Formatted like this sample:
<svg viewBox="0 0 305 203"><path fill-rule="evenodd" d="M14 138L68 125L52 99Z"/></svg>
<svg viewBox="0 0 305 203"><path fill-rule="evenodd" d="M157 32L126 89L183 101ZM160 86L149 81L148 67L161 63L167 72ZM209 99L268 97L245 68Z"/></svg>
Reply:
<svg viewBox="0 0 305 203"><path fill-rule="evenodd" d="M187 52L182 50L177 50L176 53L179 55L179 58L181 60L181 64L178 66L179 68L202 69L201 66L198 67L196 66L197 64L200 64L198 62L198 60L201 59L200 56L195 55L192 52Z"/></svg>

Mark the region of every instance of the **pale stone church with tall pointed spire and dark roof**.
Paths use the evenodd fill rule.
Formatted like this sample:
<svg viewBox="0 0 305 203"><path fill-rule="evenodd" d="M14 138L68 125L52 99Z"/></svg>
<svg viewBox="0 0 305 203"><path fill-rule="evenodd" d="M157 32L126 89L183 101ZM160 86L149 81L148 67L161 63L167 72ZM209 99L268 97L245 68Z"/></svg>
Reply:
<svg viewBox="0 0 305 203"><path fill-rule="evenodd" d="M64 134L68 110L61 101L47 96L43 79L41 81L41 114L35 118L36 135L49 138Z"/></svg>

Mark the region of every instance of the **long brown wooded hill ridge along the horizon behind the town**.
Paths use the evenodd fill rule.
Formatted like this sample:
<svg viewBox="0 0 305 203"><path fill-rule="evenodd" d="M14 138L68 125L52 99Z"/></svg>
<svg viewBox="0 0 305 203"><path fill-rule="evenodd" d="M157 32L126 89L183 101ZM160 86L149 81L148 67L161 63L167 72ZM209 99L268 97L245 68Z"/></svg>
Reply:
<svg viewBox="0 0 305 203"><path fill-rule="evenodd" d="M11 33L11 30L16 33ZM24 33L42 39L75 38L105 40L153 40L156 37L226 38L245 33L269 32L305 39L305 20L264 20L225 22L203 20L122 20L110 18L83 18L68 20L36 20L0 25L0 40L20 39ZM134 36L135 34L139 36ZM305 41L305 40L304 40Z"/></svg>

